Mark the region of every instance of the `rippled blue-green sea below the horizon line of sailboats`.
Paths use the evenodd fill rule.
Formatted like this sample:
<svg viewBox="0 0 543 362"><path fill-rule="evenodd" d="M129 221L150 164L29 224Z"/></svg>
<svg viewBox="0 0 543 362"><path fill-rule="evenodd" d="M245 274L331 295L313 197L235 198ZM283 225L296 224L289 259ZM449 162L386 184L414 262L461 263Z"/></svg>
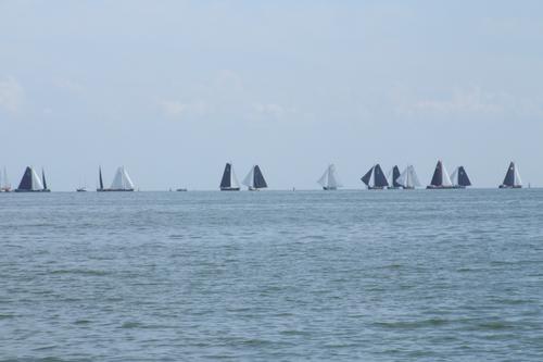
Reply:
<svg viewBox="0 0 543 362"><path fill-rule="evenodd" d="M0 360L542 361L543 190L0 195Z"/></svg>

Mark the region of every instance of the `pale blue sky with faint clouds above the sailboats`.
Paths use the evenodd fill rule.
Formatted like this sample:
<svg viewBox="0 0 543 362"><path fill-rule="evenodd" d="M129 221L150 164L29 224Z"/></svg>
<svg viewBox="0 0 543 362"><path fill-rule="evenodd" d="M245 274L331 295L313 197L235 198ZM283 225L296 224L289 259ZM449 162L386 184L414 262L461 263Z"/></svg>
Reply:
<svg viewBox="0 0 543 362"><path fill-rule="evenodd" d="M0 0L0 165L16 186L346 188L442 159L543 186L541 1Z"/></svg>

